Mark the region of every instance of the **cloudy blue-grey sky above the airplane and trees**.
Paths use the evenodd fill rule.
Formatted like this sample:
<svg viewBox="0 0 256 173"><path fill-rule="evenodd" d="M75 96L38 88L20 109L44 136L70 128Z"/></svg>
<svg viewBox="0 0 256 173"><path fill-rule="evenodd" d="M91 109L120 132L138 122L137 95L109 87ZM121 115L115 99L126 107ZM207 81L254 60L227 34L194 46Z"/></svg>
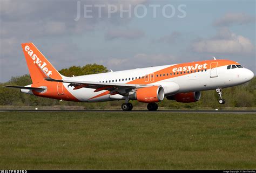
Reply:
<svg viewBox="0 0 256 173"><path fill-rule="evenodd" d="M127 70L213 59L256 74L255 1L0 1L0 82L28 74L21 43L57 70ZM99 7L100 6L100 7Z"/></svg>

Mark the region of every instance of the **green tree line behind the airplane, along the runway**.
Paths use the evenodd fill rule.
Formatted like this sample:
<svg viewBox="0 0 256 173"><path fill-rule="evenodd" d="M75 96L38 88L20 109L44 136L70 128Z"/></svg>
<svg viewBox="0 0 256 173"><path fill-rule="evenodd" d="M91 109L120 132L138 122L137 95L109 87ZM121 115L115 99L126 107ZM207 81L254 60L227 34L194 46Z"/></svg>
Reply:
<svg viewBox="0 0 256 173"><path fill-rule="evenodd" d="M86 75L108 72L107 68L98 64L87 64L85 66L71 66L59 71L66 77L73 75ZM34 95L19 92L19 89L5 88L4 85L26 86L32 84L30 75L25 74L18 77L12 77L8 82L0 83L0 105L1 106L85 106L85 107L111 107L120 106L123 101L99 102L99 103L82 103L70 102L41 98ZM215 91L201 92L201 99L194 103L178 103L174 100L164 99L159 102L160 107L166 108L219 108L219 107L255 107L256 106L256 79L253 78L246 84L224 88L223 98L226 100L225 105L219 105L218 94ZM145 103L132 101L133 106L145 106Z"/></svg>

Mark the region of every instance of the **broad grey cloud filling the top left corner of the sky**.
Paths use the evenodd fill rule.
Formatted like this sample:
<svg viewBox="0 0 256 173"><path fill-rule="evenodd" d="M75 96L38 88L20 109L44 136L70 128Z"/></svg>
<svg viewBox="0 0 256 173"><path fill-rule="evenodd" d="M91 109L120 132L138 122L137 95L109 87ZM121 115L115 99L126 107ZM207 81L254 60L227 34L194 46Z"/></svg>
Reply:
<svg viewBox="0 0 256 173"><path fill-rule="evenodd" d="M80 19L76 22L77 2L80 2ZM96 25L105 23L104 26L127 24L131 18L119 13L112 13L109 18L107 5L123 6L145 3L147 0L101 0L101 1L33 1L24 0L1 1L1 38L15 36L17 38L66 36L70 34L82 34L92 31ZM102 9L102 17L98 16L99 9L95 5L105 5ZM84 17L84 5L91 5L92 18Z"/></svg>

